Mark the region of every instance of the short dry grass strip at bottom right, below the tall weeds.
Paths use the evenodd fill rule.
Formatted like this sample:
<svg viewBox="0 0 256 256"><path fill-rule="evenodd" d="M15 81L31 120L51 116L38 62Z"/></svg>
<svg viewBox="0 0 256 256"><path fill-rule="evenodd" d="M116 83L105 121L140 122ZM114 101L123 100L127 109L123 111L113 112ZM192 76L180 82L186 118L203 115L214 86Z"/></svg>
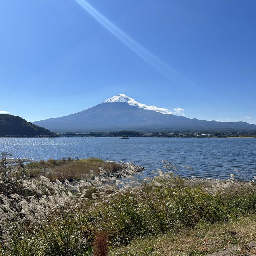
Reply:
<svg viewBox="0 0 256 256"><path fill-rule="evenodd" d="M246 255L246 243L256 240L256 216L248 215L238 220L216 224L200 224L182 228L166 235L137 239L127 246L110 250L110 256L200 256L240 245Z"/></svg>

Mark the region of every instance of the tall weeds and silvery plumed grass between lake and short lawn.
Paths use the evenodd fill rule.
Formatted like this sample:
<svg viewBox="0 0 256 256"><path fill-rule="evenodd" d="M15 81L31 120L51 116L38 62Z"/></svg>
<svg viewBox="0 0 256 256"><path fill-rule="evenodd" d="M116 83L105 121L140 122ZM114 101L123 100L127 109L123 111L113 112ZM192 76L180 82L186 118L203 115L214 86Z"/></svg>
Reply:
<svg viewBox="0 0 256 256"><path fill-rule="evenodd" d="M97 248L106 248L106 237L111 245L128 244L134 238L255 212L254 182L238 185L229 180L213 190L188 187L176 176L175 165L164 162L164 166L168 172L157 170L154 178L138 179L130 164L130 174L123 180L96 176L77 186L68 180L65 186L59 180L50 182L44 176L10 177L7 184L1 180L0 188L16 189L0 194L0 252L80 256L90 254L94 246L97 255Z"/></svg>

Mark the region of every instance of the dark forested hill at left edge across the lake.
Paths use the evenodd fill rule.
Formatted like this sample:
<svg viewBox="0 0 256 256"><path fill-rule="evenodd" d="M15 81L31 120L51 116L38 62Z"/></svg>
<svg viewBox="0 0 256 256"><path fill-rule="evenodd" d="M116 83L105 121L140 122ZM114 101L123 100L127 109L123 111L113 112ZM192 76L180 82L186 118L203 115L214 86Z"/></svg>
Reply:
<svg viewBox="0 0 256 256"><path fill-rule="evenodd" d="M54 134L49 130L32 124L19 116L0 114L0 137L34 137L42 134Z"/></svg>

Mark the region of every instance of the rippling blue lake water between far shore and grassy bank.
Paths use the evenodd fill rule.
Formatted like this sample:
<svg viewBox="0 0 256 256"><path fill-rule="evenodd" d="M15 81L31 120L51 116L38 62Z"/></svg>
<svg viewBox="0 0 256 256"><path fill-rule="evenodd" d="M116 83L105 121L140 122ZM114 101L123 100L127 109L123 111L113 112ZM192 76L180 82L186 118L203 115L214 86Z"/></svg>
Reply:
<svg viewBox="0 0 256 256"><path fill-rule="evenodd" d="M98 157L133 162L148 171L162 168L161 160L168 160L186 177L228 179L236 174L252 180L256 175L254 138L0 138L0 152L34 160ZM194 170L182 167L188 165Z"/></svg>

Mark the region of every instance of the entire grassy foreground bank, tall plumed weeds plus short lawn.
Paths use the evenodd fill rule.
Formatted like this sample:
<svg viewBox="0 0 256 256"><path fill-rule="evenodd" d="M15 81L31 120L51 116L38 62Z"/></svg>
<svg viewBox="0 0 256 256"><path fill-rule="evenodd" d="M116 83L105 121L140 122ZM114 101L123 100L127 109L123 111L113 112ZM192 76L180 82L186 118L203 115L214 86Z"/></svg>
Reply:
<svg viewBox="0 0 256 256"><path fill-rule="evenodd" d="M0 255L203 255L254 240L254 181L186 186L175 165L164 166L151 179L134 178L130 164L123 180L64 186L2 159Z"/></svg>

